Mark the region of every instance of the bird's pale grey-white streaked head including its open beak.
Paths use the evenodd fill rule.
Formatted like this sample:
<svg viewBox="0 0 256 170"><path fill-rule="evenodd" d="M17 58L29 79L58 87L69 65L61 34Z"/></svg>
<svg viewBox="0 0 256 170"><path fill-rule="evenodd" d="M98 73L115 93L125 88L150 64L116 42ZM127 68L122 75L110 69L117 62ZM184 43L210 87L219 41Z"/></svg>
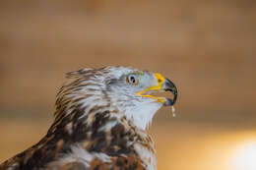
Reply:
<svg viewBox="0 0 256 170"><path fill-rule="evenodd" d="M177 98L177 88L159 73L139 71L128 67L82 69L68 73L71 83L61 88L56 106L117 110L135 126L145 129L161 106L172 106ZM172 99L155 96L153 92L171 91ZM70 101L70 102L67 102Z"/></svg>

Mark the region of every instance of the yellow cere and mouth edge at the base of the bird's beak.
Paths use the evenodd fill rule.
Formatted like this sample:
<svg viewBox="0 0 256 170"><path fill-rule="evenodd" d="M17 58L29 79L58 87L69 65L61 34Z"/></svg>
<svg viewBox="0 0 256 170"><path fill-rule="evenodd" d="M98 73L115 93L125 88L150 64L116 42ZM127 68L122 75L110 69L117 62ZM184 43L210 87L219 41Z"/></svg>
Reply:
<svg viewBox="0 0 256 170"><path fill-rule="evenodd" d="M137 94L140 95L140 96L143 96L143 97L150 97L150 98L156 99L157 101L163 103L164 99L162 97L156 97L156 96L153 96L153 95L144 94L145 92L147 92L149 90L159 90L159 89L161 89L161 85L164 83L164 78L159 73L156 73L155 77L156 77L156 79L159 83L158 85L148 87L148 88L144 89L141 92L137 92Z"/></svg>

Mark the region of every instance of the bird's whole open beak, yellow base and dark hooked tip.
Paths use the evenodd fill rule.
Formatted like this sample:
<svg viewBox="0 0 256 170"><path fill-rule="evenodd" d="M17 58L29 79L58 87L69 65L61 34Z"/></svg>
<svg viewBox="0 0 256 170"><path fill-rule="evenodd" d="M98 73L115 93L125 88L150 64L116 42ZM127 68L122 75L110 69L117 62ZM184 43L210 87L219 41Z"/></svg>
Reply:
<svg viewBox="0 0 256 170"><path fill-rule="evenodd" d="M158 85L148 87L147 89L144 89L141 92L138 92L137 94L143 97L150 97L155 99L158 102L163 103L164 106L172 106L175 104L178 91L176 86L168 79L163 78L159 73L155 74L156 80L158 81ZM165 97L157 97L150 95L150 93L154 91L171 91L173 94L173 98L165 98Z"/></svg>

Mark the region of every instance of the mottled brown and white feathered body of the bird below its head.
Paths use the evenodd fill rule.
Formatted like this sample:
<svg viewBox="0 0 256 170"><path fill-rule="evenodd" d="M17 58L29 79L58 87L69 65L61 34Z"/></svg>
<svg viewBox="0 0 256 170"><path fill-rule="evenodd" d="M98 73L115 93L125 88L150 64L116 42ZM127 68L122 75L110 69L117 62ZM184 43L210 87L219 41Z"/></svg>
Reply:
<svg viewBox="0 0 256 170"><path fill-rule="evenodd" d="M4 162L0 169L117 170L127 167L140 170L154 155L150 136L125 117L95 115L89 125L84 125L85 121L70 120L56 123L40 142Z"/></svg>

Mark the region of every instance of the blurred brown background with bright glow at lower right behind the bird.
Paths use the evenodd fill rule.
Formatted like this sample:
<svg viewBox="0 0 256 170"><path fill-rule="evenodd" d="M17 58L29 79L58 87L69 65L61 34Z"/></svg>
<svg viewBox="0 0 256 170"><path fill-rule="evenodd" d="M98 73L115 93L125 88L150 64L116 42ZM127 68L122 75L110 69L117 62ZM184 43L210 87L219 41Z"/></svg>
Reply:
<svg viewBox="0 0 256 170"><path fill-rule="evenodd" d="M0 162L42 138L64 74L133 66L179 89L160 170L256 170L256 1L0 1Z"/></svg>

